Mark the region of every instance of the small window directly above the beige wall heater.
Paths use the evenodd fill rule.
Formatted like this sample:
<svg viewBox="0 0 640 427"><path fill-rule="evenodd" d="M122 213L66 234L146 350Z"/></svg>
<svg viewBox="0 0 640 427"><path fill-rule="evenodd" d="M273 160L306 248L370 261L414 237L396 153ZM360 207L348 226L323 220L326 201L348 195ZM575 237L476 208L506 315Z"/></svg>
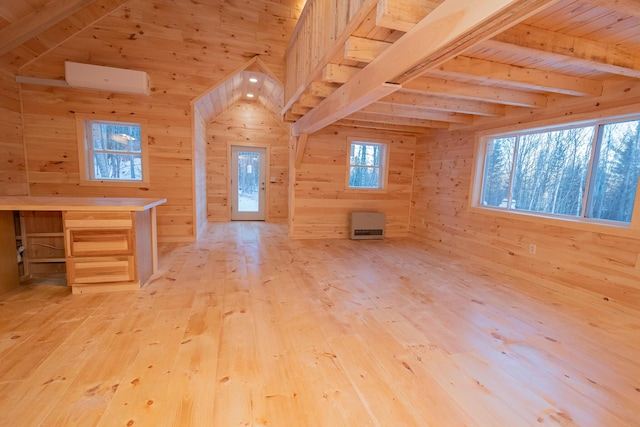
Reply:
<svg viewBox="0 0 640 427"><path fill-rule="evenodd" d="M351 140L349 145L349 188L383 189L387 144Z"/></svg>

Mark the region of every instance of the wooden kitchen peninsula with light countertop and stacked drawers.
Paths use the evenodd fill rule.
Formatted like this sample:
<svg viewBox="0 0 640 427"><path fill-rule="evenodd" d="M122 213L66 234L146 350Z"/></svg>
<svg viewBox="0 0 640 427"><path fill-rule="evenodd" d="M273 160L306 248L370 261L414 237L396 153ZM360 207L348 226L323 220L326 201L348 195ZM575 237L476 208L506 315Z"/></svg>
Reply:
<svg viewBox="0 0 640 427"><path fill-rule="evenodd" d="M158 266L156 206L167 199L102 197L0 197L2 223L10 211L62 212L67 285L74 294L139 289ZM16 236L3 232L2 247ZM16 262L13 252L2 265ZM13 273L11 273L13 275ZM3 275L2 288L18 277ZM9 283L12 282L12 283Z"/></svg>

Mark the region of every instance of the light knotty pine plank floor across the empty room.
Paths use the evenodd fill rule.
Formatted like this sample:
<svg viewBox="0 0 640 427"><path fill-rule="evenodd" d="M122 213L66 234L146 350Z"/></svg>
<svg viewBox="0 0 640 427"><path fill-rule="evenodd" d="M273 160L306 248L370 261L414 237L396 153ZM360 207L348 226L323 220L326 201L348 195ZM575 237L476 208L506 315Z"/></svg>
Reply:
<svg viewBox="0 0 640 427"><path fill-rule="evenodd" d="M0 426L640 425L640 316L410 240L211 224L139 292L0 298Z"/></svg>

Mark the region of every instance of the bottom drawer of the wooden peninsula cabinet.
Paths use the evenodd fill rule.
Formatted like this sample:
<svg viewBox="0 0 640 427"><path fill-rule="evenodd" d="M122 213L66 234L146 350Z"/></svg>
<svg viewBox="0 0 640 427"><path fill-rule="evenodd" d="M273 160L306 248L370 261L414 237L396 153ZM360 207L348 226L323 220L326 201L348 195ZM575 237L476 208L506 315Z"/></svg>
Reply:
<svg viewBox="0 0 640 427"><path fill-rule="evenodd" d="M69 284L129 282L135 280L133 257L77 258L67 261Z"/></svg>

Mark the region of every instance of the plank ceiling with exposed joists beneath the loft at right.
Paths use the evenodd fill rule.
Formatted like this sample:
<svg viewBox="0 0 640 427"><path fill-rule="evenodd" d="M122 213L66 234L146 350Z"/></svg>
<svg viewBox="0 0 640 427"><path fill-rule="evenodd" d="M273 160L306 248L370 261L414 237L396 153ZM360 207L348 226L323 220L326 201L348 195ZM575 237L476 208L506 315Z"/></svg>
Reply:
<svg viewBox="0 0 640 427"><path fill-rule="evenodd" d="M597 97L607 81L640 79L640 2L539 2L540 10L519 23L484 38L481 28L478 40L446 61L416 62L408 74L382 80L394 86L336 112L356 84L384 75L379 59L419 58L419 50L407 49L417 44L403 44L403 39L444 3L449 7L456 0L380 0L320 75L311 76L312 83L295 99L285 100L283 114L295 122L294 134L313 133L329 123L415 133L464 128L541 109L559 97ZM422 25L423 36L429 34L426 28ZM375 72L366 72L373 67Z"/></svg>

